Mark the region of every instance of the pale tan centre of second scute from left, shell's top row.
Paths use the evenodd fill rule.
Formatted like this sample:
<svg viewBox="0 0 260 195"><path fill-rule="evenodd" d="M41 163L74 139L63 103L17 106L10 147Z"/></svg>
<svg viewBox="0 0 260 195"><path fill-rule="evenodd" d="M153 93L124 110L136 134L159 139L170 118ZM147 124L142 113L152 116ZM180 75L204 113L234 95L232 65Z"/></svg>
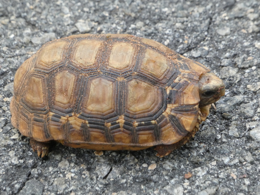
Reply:
<svg viewBox="0 0 260 195"><path fill-rule="evenodd" d="M75 51L75 61L80 63L81 67L87 68L95 63L97 51L101 45L98 40L82 40L77 44Z"/></svg>

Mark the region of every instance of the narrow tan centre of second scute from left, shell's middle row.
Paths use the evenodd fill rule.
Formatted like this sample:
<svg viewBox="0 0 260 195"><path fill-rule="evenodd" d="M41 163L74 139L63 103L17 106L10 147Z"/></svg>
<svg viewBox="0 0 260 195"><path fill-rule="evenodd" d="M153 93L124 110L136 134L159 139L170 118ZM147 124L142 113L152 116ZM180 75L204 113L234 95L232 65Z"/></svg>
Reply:
<svg viewBox="0 0 260 195"><path fill-rule="evenodd" d="M67 70L57 73L55 76L55 101L61 104L70 103L71 97L75 93L75 75Z"/></svg>

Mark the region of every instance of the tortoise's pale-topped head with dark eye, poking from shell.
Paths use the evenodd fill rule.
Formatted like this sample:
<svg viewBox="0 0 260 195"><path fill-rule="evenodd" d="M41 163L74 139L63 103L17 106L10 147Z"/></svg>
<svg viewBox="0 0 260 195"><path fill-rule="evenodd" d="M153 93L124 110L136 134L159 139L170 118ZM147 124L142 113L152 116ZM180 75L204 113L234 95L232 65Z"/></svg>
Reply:
<svg viewBox="0 0 260 195"><path fill-rule="evenodd" d="M205 73L199 76L199 107L212 104L225 95L225 84L213 73Z"/></svg>

